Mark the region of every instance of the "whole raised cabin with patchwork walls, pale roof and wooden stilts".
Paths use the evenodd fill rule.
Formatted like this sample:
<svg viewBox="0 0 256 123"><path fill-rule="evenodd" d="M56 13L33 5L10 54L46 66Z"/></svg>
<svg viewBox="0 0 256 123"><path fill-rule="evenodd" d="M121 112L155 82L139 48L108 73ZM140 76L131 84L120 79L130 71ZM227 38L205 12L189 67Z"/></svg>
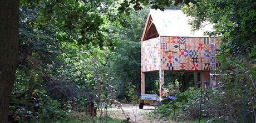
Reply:
<svg viewBox="0 0 256 123"><path fill-rule="evenodd" d="M211 31L211 24L191 32L189 19L181 10L150 9L141 38L142 94L146 72L159 72L160 96L164 95L165 72L200 72L201 81L210 81L210 71L220 65L215 59L219 40L204 35Z"/></svg>

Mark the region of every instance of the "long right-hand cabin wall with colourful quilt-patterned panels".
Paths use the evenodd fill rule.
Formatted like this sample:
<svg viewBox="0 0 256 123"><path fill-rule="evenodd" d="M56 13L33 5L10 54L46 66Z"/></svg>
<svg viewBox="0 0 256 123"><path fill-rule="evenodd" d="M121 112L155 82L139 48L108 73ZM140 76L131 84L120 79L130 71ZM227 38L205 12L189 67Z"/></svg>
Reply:
<svg viewBox="0 0 256 123"><path fill-rule="evenodd" d="M209 71L210 43L216 38L160 37L161 70Z"/></svg>

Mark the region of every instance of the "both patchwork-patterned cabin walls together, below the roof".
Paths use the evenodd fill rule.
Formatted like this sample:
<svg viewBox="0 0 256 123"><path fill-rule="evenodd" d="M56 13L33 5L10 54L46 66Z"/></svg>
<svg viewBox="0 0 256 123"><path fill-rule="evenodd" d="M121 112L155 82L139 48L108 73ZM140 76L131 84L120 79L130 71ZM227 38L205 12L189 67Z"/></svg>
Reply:
<svg viewBox="0 0 256 123"><path fill-rule="evenodd" d="M218 42L216 38L198 37L145 40L141 48L141 71L210 71L219 66L219 61L215 61L216 50L213 50L218 47Z"/></svg>

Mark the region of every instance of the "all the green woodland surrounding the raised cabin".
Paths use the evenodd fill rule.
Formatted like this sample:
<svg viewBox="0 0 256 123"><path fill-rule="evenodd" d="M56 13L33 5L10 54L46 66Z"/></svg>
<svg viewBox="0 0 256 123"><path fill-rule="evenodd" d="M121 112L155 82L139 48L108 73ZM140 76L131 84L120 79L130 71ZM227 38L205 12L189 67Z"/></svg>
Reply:
<svg viewBox="0 0 256 123"><path fill-rule="evenodd" d="M6 84L12 91L9 110L3 110L9 122L65 121L74 111L88 111L91 103L98 109L119 102L136 103L141 93L140 38L149 8L182 9L193 17L194 29L205 20L215 24L215 31L206 33L223 40L217 71L221 77L218 88L209 90L202 114L211 121L255 122L254 0L21 0L18 4L18 54L13 55L16 79L10 80L13 85ZM1 32L7 32L3 27ZM1 69L11 62L4 56ZM184 75L166 75L168 89L186 99L159 107L159 117L198 118L200 90L193 79L184 81ZM193 78L193 74L186 76ZM157 73L146 75L147 93L159 93L157 78ZM7 90L0 92L8 95ZM174 112L178 113L175 117Z"/></svg>

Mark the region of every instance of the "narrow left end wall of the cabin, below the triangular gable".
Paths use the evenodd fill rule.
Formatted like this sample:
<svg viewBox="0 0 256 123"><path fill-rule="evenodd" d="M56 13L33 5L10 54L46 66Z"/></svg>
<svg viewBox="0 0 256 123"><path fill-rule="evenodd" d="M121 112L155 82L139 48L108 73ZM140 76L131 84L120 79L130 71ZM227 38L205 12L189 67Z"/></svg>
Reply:
<svg viewBox="0 0 256 123"><path fill-rule="evenodd" d="M160 68L160 38L141 42L141 71L156 71Z"/></svg>

